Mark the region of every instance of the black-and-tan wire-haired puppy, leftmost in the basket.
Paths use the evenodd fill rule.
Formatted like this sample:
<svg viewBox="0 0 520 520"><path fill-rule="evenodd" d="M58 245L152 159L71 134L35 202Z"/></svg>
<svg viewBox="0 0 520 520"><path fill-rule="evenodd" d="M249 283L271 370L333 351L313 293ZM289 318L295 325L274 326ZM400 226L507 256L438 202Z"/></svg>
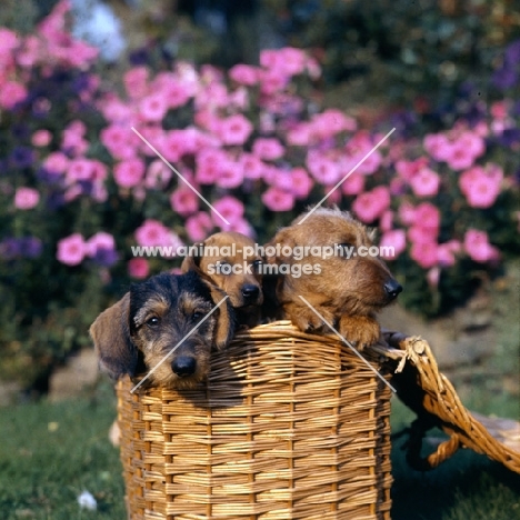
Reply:
<svg viewBox="0 0 520 520"><path fill-rule="evenodd" d="M210 370L211 349L233 337L229 299L211 312L224 298L193 272L161 273L132 284L90 327L101 370L112 379L153 371L156 384L194 387Z"/></svg>

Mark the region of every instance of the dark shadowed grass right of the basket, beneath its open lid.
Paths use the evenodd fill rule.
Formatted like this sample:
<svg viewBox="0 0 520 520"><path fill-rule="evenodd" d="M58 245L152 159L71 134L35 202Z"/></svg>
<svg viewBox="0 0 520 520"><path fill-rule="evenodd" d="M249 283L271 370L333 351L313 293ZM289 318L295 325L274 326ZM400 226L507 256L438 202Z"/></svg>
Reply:
<svg viewBox="0 0 520 520"><path fill-rule="evenodd" d="M413 418L403 404L392 402L392 431ZM431 471L414 471L404 460L404 442L392 442L392 520L520 519L520 474L470 450L459 450Z"/></svg>

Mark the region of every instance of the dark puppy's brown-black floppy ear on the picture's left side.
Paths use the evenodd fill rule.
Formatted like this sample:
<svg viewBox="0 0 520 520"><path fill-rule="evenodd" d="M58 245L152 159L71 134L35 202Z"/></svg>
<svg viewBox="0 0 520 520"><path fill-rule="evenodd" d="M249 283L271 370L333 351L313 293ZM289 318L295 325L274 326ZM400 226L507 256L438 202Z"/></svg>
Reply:
<svg viewBox="0 0 520 520"><path fill-rule="evenodd" d="M130 293L98 316L89 332L98 351L99 366L112 379L136 374L138 350L129 331Z"/></svg>

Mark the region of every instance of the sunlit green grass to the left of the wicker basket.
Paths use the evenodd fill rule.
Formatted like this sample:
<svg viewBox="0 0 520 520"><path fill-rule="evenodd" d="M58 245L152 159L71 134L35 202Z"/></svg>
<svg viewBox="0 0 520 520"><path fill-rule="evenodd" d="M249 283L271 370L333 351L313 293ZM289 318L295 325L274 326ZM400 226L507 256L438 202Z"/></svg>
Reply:
<svg viewBox="0 0 520 520"><path fill-rule="evenodd" d="M119 453L107 438L114 413L108 387L74 401L2 409L0 518L126 519ZM83 490L98 511L79 508Z"/></svg>

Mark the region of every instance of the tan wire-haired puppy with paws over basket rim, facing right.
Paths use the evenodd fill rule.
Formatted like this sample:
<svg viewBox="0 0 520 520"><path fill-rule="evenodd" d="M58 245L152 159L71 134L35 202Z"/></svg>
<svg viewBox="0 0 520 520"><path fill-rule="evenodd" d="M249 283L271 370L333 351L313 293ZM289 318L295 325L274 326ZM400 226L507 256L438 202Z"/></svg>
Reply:
<svg viewBox="0 0 520 520"><path fill-rule="evenodd" d="M308 218L299 223L306 216ZM267 244L278 246L279 252L269 256L266 249L266 260L283 272L276 283L276 298L284 317L302 331L331 332L302 301L302 296L359 349L377 342L380 327L376 313L392 302L402 287L379 257L360 256L360 251L367 251L360 248L370 248L372 240L372 232L339 209L321 208L303 213L291 226L280 229ZM299 254L307 247L308 254L287 257L281 253L283 247ZM332 248L337 253L313 256L312 247L317 247L316 251L329 248L328 252ZM284 271L282 266L286 266Z"/></svg>

